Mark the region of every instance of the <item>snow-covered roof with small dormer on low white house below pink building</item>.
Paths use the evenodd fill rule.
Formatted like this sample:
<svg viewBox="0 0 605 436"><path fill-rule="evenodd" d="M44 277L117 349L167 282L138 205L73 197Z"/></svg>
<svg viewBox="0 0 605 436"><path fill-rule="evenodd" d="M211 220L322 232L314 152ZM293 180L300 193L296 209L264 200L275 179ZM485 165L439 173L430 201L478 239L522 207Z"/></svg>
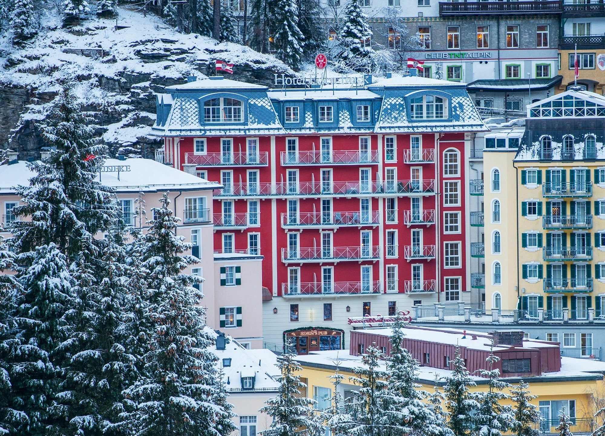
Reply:
<svg viewBox="0 0 605 436"><path fill-rule="evenodd" d="M223 368L227 389L234 392L276 392L280 383L280 369L277 355L270 350L247 350L237 340L227 336L225 350L212 347L212 353L218 357L217 366ZM230 366L223 359L231 359ZM254 389L242 389L241 377L255 377Z"/></svg>

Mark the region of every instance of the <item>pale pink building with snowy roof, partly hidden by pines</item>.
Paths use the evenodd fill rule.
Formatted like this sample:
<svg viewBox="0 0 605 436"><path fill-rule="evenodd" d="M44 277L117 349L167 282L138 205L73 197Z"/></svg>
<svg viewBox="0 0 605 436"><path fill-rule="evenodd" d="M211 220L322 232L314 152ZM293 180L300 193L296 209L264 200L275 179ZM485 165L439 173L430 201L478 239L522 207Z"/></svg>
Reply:
<svg viewBox="0 0 605 436"><path fill-rule="evenodd" d="M18 219L11 209L19 204L15 186L28 184L33 173L27 163L11 154L10 163L0 165L0 207L2 228ZM244 347L263 347L263 301L261 261L263 256L246 252L221 253L214 250L212 190L221 185L179 171L154 160L108 159L99 172L99 180L113 187L128 226L145 231L152 207L159 207L165 192L170 207L181 221L177 235L193 244L191 254L200 259L189 272L204 278L201 304L207 308L206 324L225 331ZM146 218L135 213L137 198L143 193ZM2 232L10 238L9 232Z"/></svg>

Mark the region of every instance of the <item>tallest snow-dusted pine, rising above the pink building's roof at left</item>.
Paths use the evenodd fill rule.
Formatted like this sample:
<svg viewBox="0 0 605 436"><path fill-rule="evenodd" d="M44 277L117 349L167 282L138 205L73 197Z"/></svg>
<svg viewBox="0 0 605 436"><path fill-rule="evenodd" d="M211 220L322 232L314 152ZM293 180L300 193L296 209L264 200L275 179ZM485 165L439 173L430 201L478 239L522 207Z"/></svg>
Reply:
<svg viewBox="0 0 605 436"><path fill-rule="evenodd" d="M11 230L15 251L26 253L51 242L71 263L94 257L94 236L110 227L116 216L111 189L97 181L102 165L94 145L90 119L65 87L54 100L41 134L52 151L41 162L29 163L30 186L19 186L21 204L13 209L18 220Z"/></svg>

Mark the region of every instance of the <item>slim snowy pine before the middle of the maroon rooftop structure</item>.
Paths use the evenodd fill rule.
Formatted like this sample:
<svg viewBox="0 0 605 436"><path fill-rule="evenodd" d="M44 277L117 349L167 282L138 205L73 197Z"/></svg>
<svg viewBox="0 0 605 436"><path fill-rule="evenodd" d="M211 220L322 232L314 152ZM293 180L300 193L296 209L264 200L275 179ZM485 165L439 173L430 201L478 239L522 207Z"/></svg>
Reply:
<svg viewBox="0 0 605 436"><path fill-rule="evenodd" d="M456 348L452 373L446 377L443 393L445 394L445 408L450 420L448 426L454 436L466 436L474 428L473 414L477 411L476 395L469 387L476 386L471 374L465 367L464 359L460 356L460 348Z"/></svg>

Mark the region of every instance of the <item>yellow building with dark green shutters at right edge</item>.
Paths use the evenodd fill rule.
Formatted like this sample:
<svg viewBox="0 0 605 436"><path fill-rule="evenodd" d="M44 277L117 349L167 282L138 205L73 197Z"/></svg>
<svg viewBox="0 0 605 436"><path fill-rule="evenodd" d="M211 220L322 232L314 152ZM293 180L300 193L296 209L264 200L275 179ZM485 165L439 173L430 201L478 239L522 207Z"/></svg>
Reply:
<svg viewBox="0 0 605 436"><path fill-rule="evenodd" d="M605 97L570 90L528 106L518 150L518 132L501 146L486 135L488 307L522 321L605 320L604 126Z"/></svg>

